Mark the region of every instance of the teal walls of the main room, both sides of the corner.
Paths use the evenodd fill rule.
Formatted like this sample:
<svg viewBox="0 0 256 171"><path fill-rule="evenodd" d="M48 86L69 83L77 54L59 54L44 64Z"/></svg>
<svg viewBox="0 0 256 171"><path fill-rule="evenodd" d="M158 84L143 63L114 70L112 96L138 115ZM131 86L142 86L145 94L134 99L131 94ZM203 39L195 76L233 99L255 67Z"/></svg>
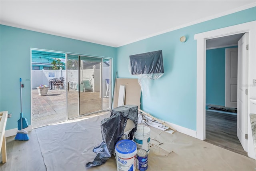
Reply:
<svg viewBox="0 0 256 171"><path fill-rule="evenodd" d="M23 78L25 85L24 117L30 120L30 48L40 48L113 57L113 75L115 77L118 71L118 78L137 78L128 71L130 55L162 50L164 76L158 80L151 80L148 85L145 85L150 93L142 95L142 109L159 119L196 130L196 40L194 35L254 20L256 20L256 7L119 48L1 25L0 110L8 110L13 116L8 119L6 129L17 127L20 115L18 80L20 77ZM181 43L180 36L186 36L187 41ZM18 66L12 66L17 63Z"/></svg>

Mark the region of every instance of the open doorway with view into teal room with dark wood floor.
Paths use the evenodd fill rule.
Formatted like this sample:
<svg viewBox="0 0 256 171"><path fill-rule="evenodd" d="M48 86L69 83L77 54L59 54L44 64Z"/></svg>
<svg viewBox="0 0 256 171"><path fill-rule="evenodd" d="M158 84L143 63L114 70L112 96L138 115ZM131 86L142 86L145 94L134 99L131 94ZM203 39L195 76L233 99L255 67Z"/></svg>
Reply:
<svg viewBox="0 0 256 171"><path fill-rule="evenodd" d="M243 35L206 40L205 141L247 156L237 137L238 40Z"/></svg>

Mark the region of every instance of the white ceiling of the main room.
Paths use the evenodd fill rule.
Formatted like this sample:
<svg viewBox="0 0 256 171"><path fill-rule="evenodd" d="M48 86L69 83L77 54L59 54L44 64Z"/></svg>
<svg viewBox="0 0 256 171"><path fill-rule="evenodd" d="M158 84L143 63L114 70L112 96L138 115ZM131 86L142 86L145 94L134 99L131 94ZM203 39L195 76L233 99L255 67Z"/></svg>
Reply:
<svg viewBox="0 0 256 171"><path fill-rule="evenodd" d="M119 47L253 6L256 0L0 0L0 24Z"/></svg>

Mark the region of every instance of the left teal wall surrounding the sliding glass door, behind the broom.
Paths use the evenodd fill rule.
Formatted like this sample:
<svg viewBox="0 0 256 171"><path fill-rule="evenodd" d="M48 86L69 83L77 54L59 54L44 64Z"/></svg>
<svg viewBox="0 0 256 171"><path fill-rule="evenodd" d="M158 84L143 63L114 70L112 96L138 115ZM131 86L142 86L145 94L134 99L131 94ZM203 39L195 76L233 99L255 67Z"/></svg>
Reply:
<svg viewBox="0 0 256 171"><path fill-rule="evenodd" d="M23 115L30 125L30 48L114 58L116 48L0 25L0 111L12 113L6 130L17 127L20 117L20 80Z"/></svg>

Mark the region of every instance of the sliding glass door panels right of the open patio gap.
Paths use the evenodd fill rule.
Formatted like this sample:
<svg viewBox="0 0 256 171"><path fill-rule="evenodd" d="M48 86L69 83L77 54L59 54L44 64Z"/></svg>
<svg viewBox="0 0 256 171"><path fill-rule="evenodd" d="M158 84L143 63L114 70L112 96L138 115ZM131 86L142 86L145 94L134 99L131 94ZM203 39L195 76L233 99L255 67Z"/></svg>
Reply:
<svg viewBox="0 0 256 171"><path fill-rule="evenodd" d="M110 109L111 60L66 54L67 118Z"/></svg>

